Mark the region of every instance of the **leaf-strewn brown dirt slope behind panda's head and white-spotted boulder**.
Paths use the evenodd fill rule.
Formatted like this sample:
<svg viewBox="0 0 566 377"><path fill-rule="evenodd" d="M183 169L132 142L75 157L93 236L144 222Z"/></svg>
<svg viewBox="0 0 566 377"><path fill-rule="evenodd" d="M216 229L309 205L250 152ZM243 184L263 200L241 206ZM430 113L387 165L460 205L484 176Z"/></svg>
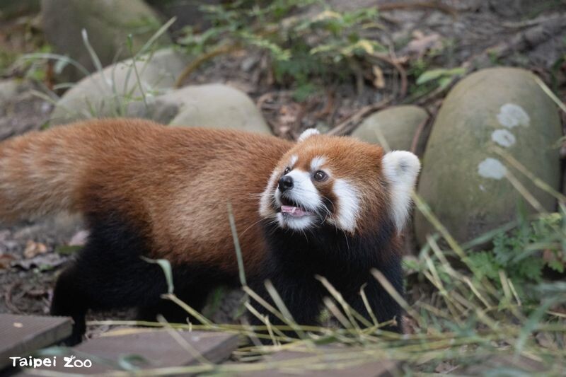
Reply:
<svg viewBox="0 0 566 377"><path fill-rule="evenodd" d="M468 71L487 66L521 66L539 74L562 98L566 88L566 4L564 1L409 1L429 6L400 6L395 1L333 0L340 9L383 6L379 40L389 47L403 72L383 65L385 86L376 88L363 76L363 86L327 83L324 95L299 103L288 88L274 85L265 54L234 52L203 64L185 81L228 83L255 99L273 132L295 138L309 127L333 129L358 120L365 107L415 103L434 113L446 91L412 94L417 60L430 69L465 66ZM397 3L397 4L395 4ZM439 5L440 4L440 5ZM397 5L397 6L395 6ZM313 12L316 12L313 11ZM375 37L373 35L372 37ZM561 59L562 58L562 59ZM405 95L399 95L400 74L408 76ZM347 127L350 129L351 127Z"/></svg>

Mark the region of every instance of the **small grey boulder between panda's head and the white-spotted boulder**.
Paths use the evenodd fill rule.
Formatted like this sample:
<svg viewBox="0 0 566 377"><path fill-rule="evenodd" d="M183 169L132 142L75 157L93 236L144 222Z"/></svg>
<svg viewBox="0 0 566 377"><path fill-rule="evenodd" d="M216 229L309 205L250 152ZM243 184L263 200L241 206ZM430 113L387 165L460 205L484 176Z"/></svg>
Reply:
<svg viewBox="0 0 566 377"><path fill-rule="evenodd" d="M384 141L391 150L410 151L418 127L428 117L426 111L415 105L392 106L367 117L352 136L373 144L381 145ZM425 136L421 134L417 139L417 154L424 151Z"/></svg>

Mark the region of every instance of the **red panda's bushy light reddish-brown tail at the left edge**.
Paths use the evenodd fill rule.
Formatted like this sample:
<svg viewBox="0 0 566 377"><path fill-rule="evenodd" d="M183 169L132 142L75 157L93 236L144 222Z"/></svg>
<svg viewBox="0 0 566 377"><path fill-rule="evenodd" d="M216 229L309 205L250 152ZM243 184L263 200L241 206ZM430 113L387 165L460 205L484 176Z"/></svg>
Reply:
<svg viewBox="0 0 566 377"><path fill-rule="evenodd" d="M86 131L56 127L0 143L0 221L76 209Z"/></svg>

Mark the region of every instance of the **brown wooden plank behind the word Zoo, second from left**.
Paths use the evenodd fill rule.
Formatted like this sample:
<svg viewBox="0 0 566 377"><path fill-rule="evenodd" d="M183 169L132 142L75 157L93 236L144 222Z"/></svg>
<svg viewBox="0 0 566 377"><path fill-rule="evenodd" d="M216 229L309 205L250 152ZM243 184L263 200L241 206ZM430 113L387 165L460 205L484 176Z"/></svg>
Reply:
<svg viewBox="0 0 566 377"><path fill-rule="evenodd" d="M225 332L177 331L176 334L178 339L163 329L139 327L118 329L69 349L68 353L57 356L56 366L43 367L39 370L83 374L104 373L124 370L120 366L120 361L123 364L125 360L139 369L188 366L199 363L199 355L212 363L217 363L229 357L238 346L238 335ZM65 367L64 357L69 356L76 357L71 364L76 360L84 362L88 359L92 362L92 366ZM128 358L128 356L132 357ZM21 376L34 376L34 369L26 369Z"/></svg>

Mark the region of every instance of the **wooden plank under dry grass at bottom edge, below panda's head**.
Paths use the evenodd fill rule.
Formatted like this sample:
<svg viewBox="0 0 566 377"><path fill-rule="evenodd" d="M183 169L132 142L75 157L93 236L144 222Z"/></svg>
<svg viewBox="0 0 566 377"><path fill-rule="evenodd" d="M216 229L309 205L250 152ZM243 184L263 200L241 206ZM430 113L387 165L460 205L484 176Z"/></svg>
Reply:
<svg viewBox="0 0 566 377"><path fill-rule="evenodd" d="M362 364L347 365L347 361L337 363L333 357L339 352L355 352L355 348L318 347L316 349L300 349L297 351L280 351L265 356L263 362L274 362L271 368L263 371L246 371L237 376L278 377L278 376L308 376L308 377L389 377L400 374L400 362L388 359L368 359ZM360 349L359 352L363 352ZM318 360L313 362L313 357ZM292 363L281 363L282 361Z"/></svg>

